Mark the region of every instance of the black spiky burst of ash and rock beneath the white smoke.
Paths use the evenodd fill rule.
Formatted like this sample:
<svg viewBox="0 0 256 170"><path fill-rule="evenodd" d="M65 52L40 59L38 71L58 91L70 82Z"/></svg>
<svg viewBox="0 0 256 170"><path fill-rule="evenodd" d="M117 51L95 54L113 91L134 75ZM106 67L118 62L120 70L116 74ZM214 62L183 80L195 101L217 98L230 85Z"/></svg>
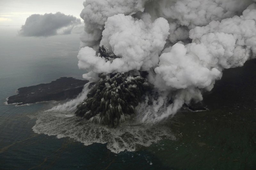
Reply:
<svg viewBox="0 0 256 170"><path fill-rule="evenodd" d="M87 95L77 106L76 115L96 123L116 127L126 115L135 113L135 107L148 90L147 79L126 76L124 73L101 74Z"/></svg>

